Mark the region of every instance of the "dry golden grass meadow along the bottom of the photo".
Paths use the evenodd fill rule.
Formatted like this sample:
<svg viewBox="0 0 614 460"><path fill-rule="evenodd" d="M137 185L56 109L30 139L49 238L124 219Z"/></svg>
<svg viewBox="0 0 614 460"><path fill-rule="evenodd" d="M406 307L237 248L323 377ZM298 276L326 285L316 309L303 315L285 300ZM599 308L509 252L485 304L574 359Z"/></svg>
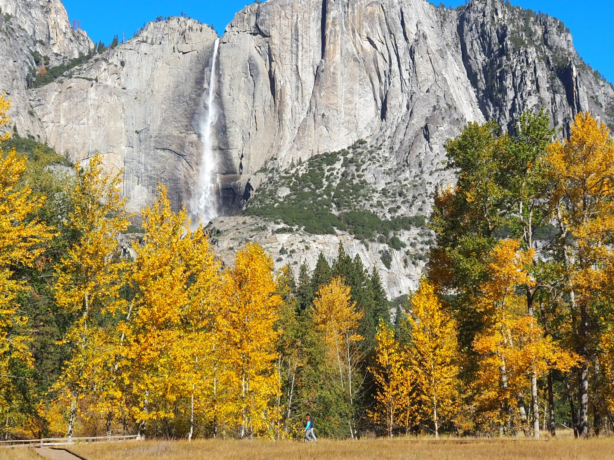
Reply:
<svg viewBox="0 0 614 460"><path fill-rule="evenodd" d="M71 446L88 460L608 460L614 439L370 439L317 444L298 441L196 440L82 444ZM2 460L41 460L36 450L0 450Z"/></svg>

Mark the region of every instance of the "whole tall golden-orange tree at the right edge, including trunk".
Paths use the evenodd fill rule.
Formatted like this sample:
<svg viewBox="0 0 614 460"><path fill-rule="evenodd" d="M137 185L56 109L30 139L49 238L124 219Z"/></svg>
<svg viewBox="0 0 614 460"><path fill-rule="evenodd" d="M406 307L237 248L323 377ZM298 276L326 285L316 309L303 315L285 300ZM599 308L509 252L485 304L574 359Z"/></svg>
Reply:
<svg viewBox="0 0 614 460"><path fill-rule="evenodd" d="M607 286L605 267L612 262L614 232L614 142L604 123L578 113L571 136L548 148L546 162L553 181L554 217L561 231L565 291L569 295L579 373L580 436L588 436L589 365L596 362L591 325L599 312L594 299ZM598 334L597 334L598 335Z"/></svg>

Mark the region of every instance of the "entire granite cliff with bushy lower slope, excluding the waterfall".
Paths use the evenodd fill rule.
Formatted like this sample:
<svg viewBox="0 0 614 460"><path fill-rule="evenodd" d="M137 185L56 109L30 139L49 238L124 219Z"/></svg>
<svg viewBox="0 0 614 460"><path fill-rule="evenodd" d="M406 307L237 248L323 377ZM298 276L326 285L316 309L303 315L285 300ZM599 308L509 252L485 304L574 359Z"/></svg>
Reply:
<svg viewBox="0 0 614 460"><path fill-rule="evenodd" d="M36 64L29 50L61 61L91 42L59 1L0 6L14 15L0 18L0 52L12 62L0 83L17 101L20 133L74 160L106 153L107 171L123 168L133 211L152 200L158 181L174 205L187 204L217 34L188 18L150 23L27 89ZM581 110L614 126L612 85L578 56L561 21L499 0L457 9L426 0L268 0L236 14L217 59L214 153L226 217L212 225L222 255L255 239L278 265L297 266L321 250L332 257L343 240L352 257L383 272L393 297L415 285L430 237L402 218L428 215L433 190L454 180L443 145L467 121L514 129L524 110L544 106L563 134ZM341 207L331 200L340 191L352 198ZM368 212L381 221L378 232L359 240L343 228L311 228L292 208L299 196L317 201L321 221Z"/></svg>

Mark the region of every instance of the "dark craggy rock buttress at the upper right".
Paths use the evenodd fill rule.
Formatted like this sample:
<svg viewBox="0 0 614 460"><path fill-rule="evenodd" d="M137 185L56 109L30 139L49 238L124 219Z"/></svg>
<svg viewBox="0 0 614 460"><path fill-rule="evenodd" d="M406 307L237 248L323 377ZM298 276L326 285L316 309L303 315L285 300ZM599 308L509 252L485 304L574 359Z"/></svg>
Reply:
<svg viewBox="0 0 614 460"><path fill-rule="evenodd" d="M513 129L519 113L545 107L569 134L578 112L614 122L614 91L577 55L556 18L498 1L474 0L459 10L467 75L488 120Z"/></svg>

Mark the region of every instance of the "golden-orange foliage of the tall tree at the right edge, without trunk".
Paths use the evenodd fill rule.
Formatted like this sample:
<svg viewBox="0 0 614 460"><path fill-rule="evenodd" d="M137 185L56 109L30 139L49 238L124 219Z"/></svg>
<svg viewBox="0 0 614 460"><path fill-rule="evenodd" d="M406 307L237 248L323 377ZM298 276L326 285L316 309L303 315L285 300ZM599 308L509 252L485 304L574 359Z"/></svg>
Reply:
<svg viewBox="0 0 614 460"><path fill-rule="evenodd" d="M570 139L551 144L547 161L555 218L576 241L575 267L568 276L578 302L588 304L611 284L604 267L614 263L607 243L614 233L614 141L604 123L578 113Z"/></svg>

